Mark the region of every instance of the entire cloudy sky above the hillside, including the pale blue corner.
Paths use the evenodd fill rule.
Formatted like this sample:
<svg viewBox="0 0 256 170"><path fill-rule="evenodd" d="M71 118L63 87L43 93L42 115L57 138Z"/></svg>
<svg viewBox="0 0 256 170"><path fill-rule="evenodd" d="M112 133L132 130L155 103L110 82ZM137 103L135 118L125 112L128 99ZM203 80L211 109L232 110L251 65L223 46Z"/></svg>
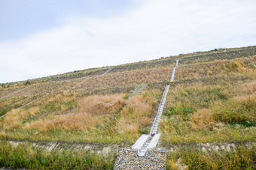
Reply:
<svg viewBox="0 0 256 170"><path fill-rule="evenodd" d="M256 45L255 0L0 0L0 82Z"/></svg>

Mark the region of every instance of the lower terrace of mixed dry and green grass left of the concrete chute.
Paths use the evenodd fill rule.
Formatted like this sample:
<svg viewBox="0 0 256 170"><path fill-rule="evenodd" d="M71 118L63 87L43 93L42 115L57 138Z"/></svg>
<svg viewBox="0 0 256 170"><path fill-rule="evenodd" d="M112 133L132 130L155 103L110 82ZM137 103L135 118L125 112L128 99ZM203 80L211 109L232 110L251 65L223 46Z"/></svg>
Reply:
<svg viewBox="0 0 256 170"><path fill-rule="evenodd" d="M131 144L142 133L148 133L160 91L144 91L129 100L127 97L126 94L93 95L72 101L70 97L56 96L41 107L13 109L1 123L0 136L32 141Z"/></svg>

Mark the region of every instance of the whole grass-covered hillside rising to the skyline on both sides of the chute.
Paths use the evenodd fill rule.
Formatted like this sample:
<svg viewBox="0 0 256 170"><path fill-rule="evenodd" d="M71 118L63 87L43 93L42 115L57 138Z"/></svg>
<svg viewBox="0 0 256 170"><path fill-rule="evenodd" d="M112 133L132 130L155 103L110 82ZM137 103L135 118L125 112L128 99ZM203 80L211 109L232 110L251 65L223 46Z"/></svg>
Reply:
<svg viewBox="0 0 256 170"><path fill-rule="evenodd" d="M210 153L207 157L186 149L170 152L167 168L178 169L181 159L180 164L189 169L254 169L254 148L245 149L243 144L255 142L256 137L256 46L194 52L1 84L0 158L8 155L17 163L0 159L0 166L32 168L26 161L35 159L36 164L39 157L32 151L19 164L8 141L99 147L116 144L129 148L151 130L176 59L179 63L160 120L158 148L186 145L189 149L206 143L234 143L239 147L233 154ZM27 149L19 149L28 154ZM82 159L80 154L65 157ZM74 161L74 165L66 167L88 168L103 159L92 157L86 165L78 166ZM101 162L104 165L98 168L111 168L114 159ZM40 161L38 165L44 166Z"/></svg>

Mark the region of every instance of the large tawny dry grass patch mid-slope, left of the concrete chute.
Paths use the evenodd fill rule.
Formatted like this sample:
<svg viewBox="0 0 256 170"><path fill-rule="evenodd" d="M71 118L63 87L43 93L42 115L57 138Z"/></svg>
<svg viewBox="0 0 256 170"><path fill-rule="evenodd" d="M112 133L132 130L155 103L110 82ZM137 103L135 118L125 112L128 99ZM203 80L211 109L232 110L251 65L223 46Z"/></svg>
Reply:
<svg viewBox="0 0 256 170"><path fill-rule="evenodd" d="M78 113L49 116L46 119L27 123L23 128L26 130L36 129L44 133L53 129L93 130L96 125L102 125L110 114L118 112L125 105L123 97L124 94L84 97L79 102L80 110Z"/></svg>

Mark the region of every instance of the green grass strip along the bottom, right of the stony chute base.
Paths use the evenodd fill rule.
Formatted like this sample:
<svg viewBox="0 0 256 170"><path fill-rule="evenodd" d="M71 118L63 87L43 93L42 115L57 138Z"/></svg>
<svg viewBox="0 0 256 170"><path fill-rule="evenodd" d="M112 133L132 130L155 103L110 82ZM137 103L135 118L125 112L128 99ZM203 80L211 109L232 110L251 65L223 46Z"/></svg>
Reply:
<svg viewBox="0 0 256 170"><path fill-rule="evenodd" d="M195 148L181 148L167 157L167 169L255 169L256 153L254 148L241 146L234 152L204 153Z"/></svg>

